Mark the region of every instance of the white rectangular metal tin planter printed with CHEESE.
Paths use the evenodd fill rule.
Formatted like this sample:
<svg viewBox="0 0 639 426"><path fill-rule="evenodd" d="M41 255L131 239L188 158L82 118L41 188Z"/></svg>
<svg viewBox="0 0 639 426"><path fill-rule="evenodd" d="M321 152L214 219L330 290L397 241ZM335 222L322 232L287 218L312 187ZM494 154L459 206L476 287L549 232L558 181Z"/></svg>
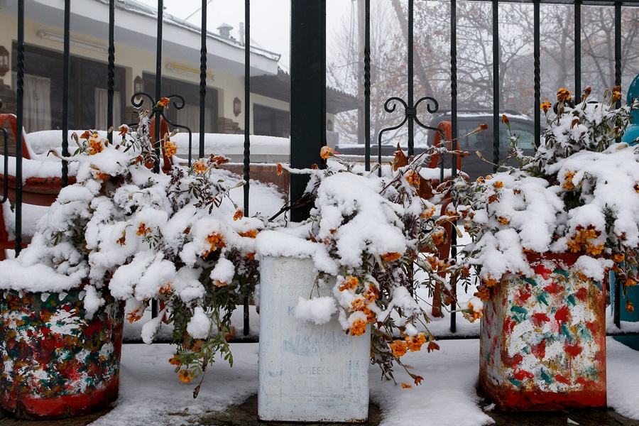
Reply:
<svg viewBox="0 0 639 426"><path fill-rule="evenodd" d="M295 318L315 282L311 259L265 257L260 269L259 419L365 422L370 329L349 336L337 315L322 325Z"/></svg>

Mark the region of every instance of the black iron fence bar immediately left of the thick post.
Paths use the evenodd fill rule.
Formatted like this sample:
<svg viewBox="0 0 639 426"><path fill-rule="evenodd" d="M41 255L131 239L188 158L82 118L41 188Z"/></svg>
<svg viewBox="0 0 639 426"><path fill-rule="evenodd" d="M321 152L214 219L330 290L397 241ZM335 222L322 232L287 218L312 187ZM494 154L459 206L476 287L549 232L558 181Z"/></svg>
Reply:
<svg viewBox="0 0 639 426"><path fill-rule="evenodd" d="M244 215L249 215L249 179L251 178L251 0L244 1ZM244 336L248 336L249 298L244 299Z"/></svg>

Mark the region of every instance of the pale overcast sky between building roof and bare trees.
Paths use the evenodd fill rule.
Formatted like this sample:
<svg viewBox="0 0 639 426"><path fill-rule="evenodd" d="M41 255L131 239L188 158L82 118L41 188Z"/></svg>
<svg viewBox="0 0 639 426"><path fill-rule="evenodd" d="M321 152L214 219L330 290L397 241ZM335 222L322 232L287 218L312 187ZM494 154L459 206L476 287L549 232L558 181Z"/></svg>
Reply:
<svg viewBox="0 0 639 426"><path fill-rule="evenodd" d="M157 7L157 0L138 0L148 6ZM327 31L342 25L348 19L353 0L327 0ZM166 11L181 19L200 25L202 15L198 11L202 0L164 0ZM233 27L231 35L239 38L239 23L244 22L244 1L212 0L207 6L207 29L216 31L222 23ZM253 45L280 53L281 64L288 69L290 64L290 0L251 0L251 39ZM327 37L330 43L332 37Z"/></svg>

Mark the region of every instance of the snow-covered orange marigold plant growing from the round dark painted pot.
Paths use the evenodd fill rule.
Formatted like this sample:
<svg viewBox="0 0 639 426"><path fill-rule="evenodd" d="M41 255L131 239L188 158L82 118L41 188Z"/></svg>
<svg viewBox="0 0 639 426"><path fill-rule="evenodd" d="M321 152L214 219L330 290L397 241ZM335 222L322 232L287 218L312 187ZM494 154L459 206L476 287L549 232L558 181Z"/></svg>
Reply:
<svg viewBox="0 0 639 426"><path fill-rule="evenodd" d="M172 323L178 347L170 362L188 383L218 353L232 364L231 312L258 281L253 246L263 221L243 217L230 200L228 175L217 169L223 157L153 173L158 157L149 134L142 112L136 129L121 126L119 143L94 131L75 135L79 148L65 159L79 163L77 183L60 191L16 261L88 281L94 304L104 302L95 289L108 288L126 301L130 322L160 300L160 315L143 325L142 339L150 344L162 321ZM175 149L169 137L165 151Z"/></svg>

